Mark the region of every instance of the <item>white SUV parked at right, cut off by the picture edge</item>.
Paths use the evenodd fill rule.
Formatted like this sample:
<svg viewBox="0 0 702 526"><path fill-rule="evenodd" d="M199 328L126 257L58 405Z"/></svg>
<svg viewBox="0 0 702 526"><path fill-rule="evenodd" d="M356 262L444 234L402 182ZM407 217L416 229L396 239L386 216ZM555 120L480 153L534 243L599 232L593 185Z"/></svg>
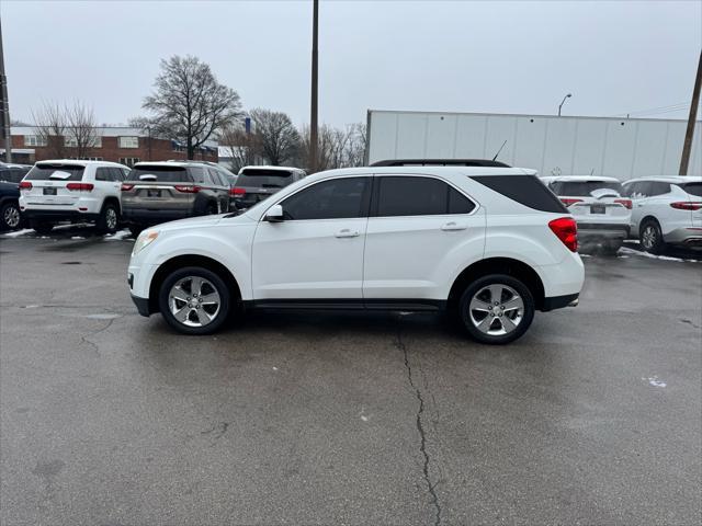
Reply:
<svg viewBox="0 0 702 526"><path fill-rule="evenodd" d="M634 204L631 233L644 250L659 254L667 244L702 247L702 178L632 179L624 194Z"/></svg>

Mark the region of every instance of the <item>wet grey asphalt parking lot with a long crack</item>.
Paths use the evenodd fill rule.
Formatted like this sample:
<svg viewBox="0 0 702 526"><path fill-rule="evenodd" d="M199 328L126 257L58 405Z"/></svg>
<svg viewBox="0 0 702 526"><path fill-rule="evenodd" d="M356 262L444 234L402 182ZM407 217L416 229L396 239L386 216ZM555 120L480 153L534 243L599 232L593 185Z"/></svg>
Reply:
<svg viewBox="0 0 702 526"><path fill-rule="evenodd" d="M186 338L124 238L0 239L3 525L700 523L700 258L586 258L505 347L398 313Z"/></svg>

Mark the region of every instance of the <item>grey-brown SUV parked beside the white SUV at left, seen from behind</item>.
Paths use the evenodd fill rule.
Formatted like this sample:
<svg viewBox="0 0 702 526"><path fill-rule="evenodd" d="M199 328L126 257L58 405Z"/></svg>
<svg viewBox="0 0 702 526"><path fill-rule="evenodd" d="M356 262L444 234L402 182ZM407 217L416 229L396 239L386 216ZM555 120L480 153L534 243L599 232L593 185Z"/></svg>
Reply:
<svg viewBox="0 0 702 526"><path fill-rule="evenodd" d="M122 206L137 235L159 222L228 211L229 182L204 162L137 162L122 184Z"/></svg>

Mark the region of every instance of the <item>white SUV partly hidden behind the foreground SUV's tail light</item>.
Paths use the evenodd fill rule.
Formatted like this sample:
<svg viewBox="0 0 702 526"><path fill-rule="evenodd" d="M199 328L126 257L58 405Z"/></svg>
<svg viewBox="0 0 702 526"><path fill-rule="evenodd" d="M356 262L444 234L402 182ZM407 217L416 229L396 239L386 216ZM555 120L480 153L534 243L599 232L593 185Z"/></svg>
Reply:
<svg viewBox="0 0 702 526"><path fill-rule="evenodd" d="M622 198L622 183L614 178L561 175L543 178L578 221L581 245L598 244L616 253L629 237L632 202Z"/></svg>

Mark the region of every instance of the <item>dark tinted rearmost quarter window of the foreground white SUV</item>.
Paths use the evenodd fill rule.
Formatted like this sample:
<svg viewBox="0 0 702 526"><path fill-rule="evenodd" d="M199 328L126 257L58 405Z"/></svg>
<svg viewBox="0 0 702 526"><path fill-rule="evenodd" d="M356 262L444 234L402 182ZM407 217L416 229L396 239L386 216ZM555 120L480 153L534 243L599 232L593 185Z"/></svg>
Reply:
<svg viewBox="0 0 702 526"><path fill-rule="evenodd" d="M534 210L568 214L558 197L535 175L474 175L471 179Z"/></svg>

